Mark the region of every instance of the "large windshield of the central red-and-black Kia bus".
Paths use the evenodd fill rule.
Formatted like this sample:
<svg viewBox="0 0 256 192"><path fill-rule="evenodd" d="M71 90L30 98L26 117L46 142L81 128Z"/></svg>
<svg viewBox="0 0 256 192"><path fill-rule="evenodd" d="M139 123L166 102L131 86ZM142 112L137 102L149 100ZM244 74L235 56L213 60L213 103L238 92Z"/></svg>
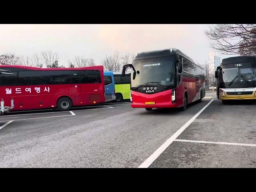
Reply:
<svg viewBox="0 0 256 192"><path fill-rule="evenodd" d="M136 70L140 71L140 74L136 74L136 78L132 80L132 87L147 84L175 85L175 68L172 56L135 60L133 65Z"/></svg>

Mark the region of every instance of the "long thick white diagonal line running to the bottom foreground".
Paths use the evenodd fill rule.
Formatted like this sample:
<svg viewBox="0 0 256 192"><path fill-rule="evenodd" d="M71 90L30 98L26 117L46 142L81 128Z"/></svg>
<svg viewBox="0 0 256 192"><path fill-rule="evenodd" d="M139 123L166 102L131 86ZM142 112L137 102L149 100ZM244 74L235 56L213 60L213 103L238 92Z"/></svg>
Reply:
<svg viewBox="0 0 256 192"><path fill-rule="evenodd" d="M152 155L150 155L138 168L148 168L162 152L211 104L212 99L197 114L195 114L186 124L184 124L176 133L174 133L164 144L162 144Z"/></svg>

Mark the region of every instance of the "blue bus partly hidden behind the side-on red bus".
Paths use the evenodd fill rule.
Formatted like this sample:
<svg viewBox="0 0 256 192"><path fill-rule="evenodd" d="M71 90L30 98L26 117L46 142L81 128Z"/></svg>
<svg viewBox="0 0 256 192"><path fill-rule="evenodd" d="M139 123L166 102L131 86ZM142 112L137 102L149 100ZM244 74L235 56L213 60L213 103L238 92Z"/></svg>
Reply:
<svg viewBox="0 0 256 192"><path fill-rule="evenodd" d="M104 71L106 102L116 100L114 75L111 71Z"/></svg>

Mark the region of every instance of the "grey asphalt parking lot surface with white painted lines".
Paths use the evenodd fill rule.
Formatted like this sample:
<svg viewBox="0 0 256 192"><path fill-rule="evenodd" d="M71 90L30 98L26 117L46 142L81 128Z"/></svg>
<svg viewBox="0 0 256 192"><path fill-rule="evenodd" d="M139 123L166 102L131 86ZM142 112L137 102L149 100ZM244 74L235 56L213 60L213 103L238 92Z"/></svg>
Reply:
<svg viewBox="0 0 256 192"><path fill-rule="evenodd" d="M256 167L255 102L215 92L178 109L130 102L0 117L0 167Z"/></svg>

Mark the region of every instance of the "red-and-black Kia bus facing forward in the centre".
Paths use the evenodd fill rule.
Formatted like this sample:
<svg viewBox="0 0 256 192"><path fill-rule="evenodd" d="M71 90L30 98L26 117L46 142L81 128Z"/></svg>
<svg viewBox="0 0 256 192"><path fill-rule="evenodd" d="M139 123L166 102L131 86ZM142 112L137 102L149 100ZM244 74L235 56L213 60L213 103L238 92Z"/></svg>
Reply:
<svg viewBox="0 0 256 192"><path fill-rule="evenodd" d="M178 108L202 101L205 96L204 69L177 49L138 53L132 64L132 108ZM137 70L137 72L136 72Z"/></svg>

